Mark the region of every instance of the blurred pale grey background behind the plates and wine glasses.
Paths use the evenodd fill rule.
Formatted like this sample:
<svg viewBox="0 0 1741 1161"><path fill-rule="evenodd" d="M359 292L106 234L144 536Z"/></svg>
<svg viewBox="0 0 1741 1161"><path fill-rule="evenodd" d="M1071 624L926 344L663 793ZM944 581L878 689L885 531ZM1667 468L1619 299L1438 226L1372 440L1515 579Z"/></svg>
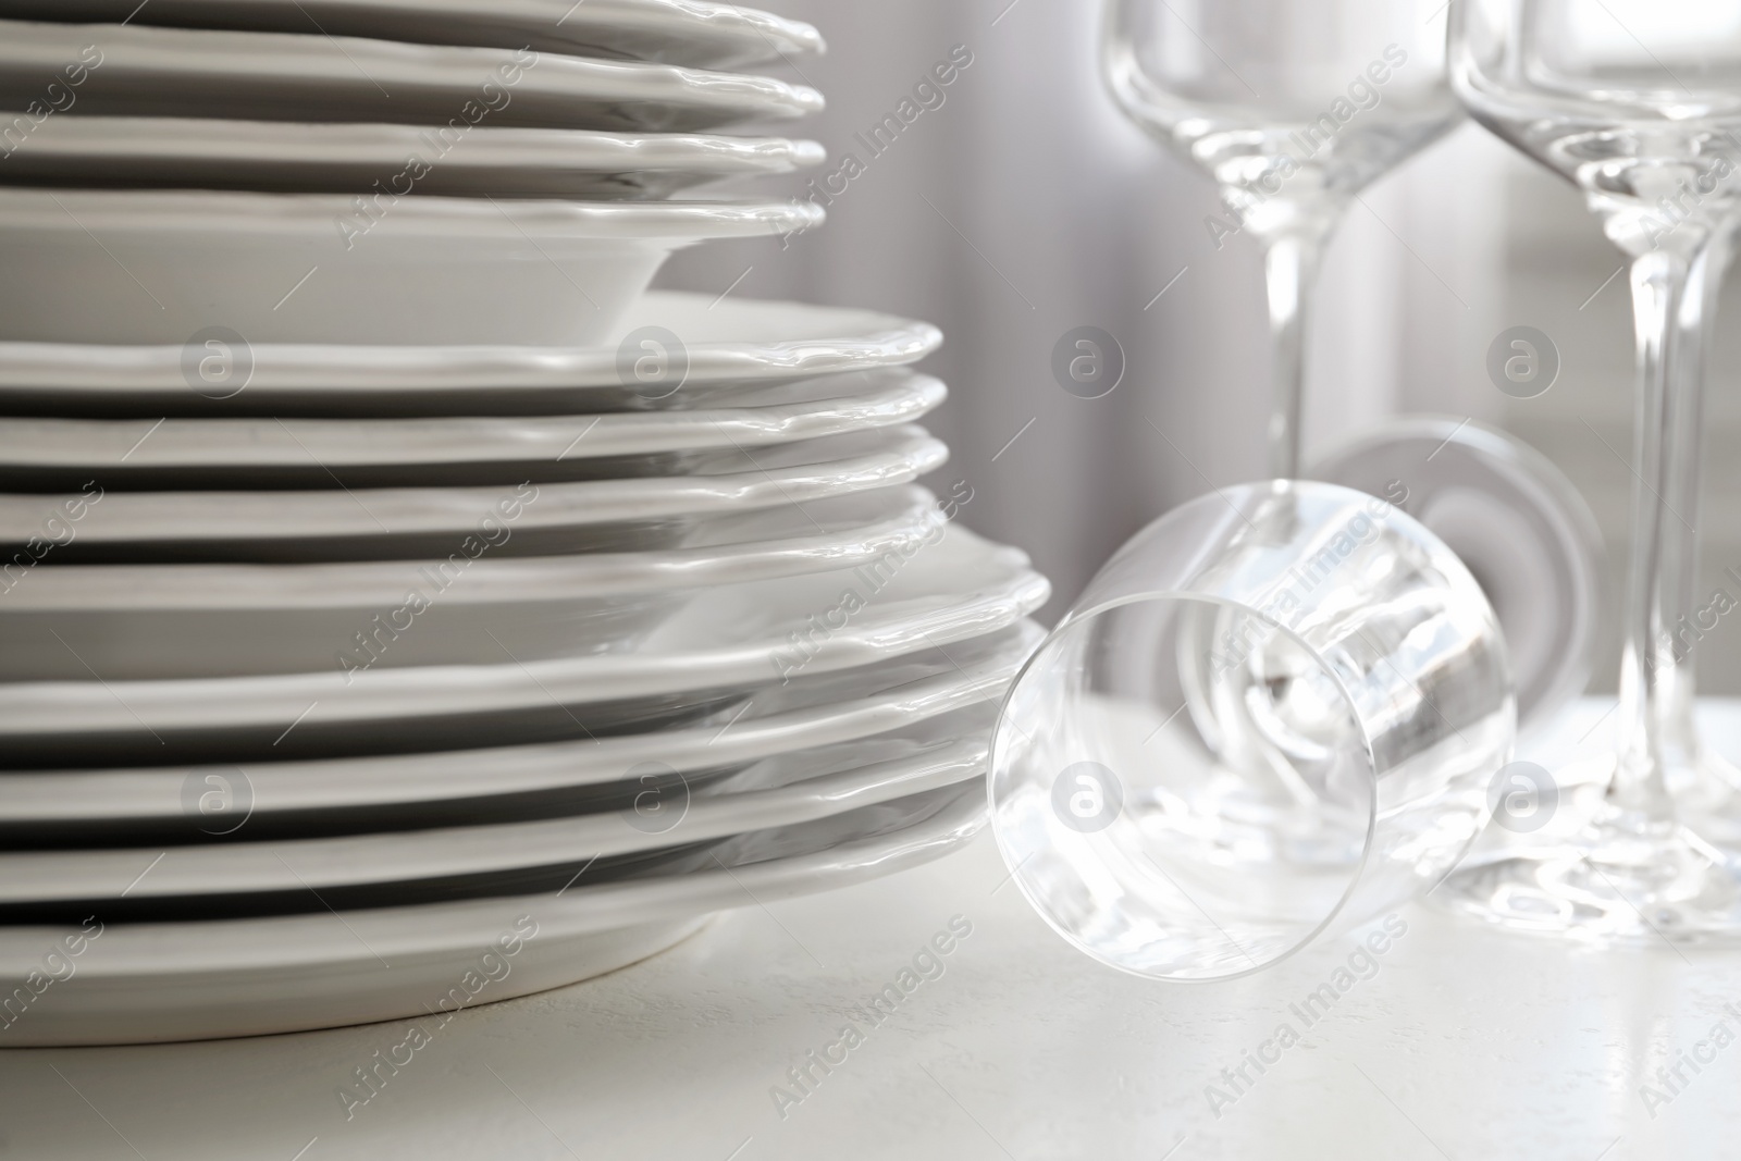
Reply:
<svg viewBox="0 0 1741 1161"><path fill-rule="evenodd" d="M780 10L829 38L825 57L787 71L829 97L806 131L830 160L785 190L810 197L811 179L830 190L829 223L783 249L681 254L662 285L937 322L947 345L926 369L952 399L928 426L954 460L930 484L966 480L961 519L1034 555L1055 585L1043 618L1156 515L1262 475L1259 251L1241 237L1217 247L1207 219L1224 211L1210 181L1106 96L1099 5L785 0ZM935 108L872 139L952 52L971 63L942 104L928 96ZM1307 463L1396 413L1473 418L1546 453L1607 540L1593 689L1610 691L1633 480L1631 310L1621 256L1579 195L1466 124L1361 195L1330 247L1320 301ZM1734 310L1718 322L1699 524L1701 592L1741 599L1741 581L1725 576L1741 571L1741 510L1727 503L1741 486ZM1053 346L1081 325L1111 332L1126 357L1104 399L1069 395L1052 374ZM1558 346L1560 378L1537 399L1511 399L1487 378L1487 348L1513 325ZM1741 693L1741 651L1724 641L1734 632L1725 621L1697 649L1704 693Z"/></svg>

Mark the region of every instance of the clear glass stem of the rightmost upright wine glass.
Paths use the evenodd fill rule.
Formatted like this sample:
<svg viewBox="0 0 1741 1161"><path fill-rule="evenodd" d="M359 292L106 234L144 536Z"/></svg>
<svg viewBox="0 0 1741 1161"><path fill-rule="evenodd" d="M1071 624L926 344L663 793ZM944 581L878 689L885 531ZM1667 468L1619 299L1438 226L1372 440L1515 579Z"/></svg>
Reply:
<svg viewBox="0 0 1741 1161"><path fill-rule="evenodd" d="M1633 261L1638 343L1633 545L1621 654L1619 761L1609 802L1649 820L1673 818L1666 768L1692 745L1691 614L1699 536L1699 421L1708 306L1725 261L1724 240L1670 247Z"/></svg>

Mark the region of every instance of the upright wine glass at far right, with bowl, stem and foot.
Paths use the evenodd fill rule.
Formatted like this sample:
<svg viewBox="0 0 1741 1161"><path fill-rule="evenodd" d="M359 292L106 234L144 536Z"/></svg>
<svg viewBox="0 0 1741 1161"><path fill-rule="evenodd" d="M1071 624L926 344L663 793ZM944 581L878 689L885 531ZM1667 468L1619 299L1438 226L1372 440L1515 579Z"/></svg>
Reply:
<svg viewBox="0 0 1741 1161"><path fill-rule="evenodd" d="M1638 419L1607 792L1576 832L1544 829L1555 837L1459 872L1435 898L1598 942L1732 938L1741 886L1722 841L1736 813L1720 802L1732 771L1694 733L1685 630L1704 620L1704 350L1741 214L1741 2L1454 0L1450 77L1476 120L1584 191L1631 259Z"/></svg>

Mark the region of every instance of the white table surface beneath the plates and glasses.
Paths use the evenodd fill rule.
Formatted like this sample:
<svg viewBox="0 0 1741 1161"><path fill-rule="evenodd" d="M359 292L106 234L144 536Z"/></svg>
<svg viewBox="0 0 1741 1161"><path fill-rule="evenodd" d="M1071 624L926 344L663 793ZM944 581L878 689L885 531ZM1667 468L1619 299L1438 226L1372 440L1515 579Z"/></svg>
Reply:
<svg viewBox="0 0 1741 1161"><path fill-rule="evenodd" d="M1569 752L1603 708L1579 707L1549 748ZM1720 708L1713 736L1741 754L1741 708ZM771 1088L954 916L973 929L944 973L782 1117ZM1262 1076L1247 1065L1255 1083L1219 1117L1205 1086L1278 1023L1301 1029L1290 1004L1330 982L1354 936L1231 983L1125 976L1052 935L982 837L465 1011L348 1121L338 1084L402 1027L0 1053L0 1158L1741 1156L1741 1017L1724 1011L1741 1013L1741 952L1581 950L1422 907L1400 919L1377 975ZM1640 1084L1718 1020L1736 1043L1647 1107Z"/></svg>

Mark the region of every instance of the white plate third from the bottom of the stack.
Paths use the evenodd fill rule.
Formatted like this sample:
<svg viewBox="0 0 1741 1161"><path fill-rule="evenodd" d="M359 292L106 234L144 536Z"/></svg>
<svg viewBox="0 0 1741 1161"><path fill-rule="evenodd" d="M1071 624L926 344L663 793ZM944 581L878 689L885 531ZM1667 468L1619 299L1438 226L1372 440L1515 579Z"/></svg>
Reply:
<svg viewBox="0 0 1741 1161"><path fill-rule="evenodd" d="M0 839L10 849L195 842L244 827L251 839L298 837L623 808L648 789L641 775L651 773L655 789L672 776L702 787L776 755L994 705L1043 635L1024 621L947 656L794 681L714 721L653 733L313 762L9 771L0 778Z"/></svg>

